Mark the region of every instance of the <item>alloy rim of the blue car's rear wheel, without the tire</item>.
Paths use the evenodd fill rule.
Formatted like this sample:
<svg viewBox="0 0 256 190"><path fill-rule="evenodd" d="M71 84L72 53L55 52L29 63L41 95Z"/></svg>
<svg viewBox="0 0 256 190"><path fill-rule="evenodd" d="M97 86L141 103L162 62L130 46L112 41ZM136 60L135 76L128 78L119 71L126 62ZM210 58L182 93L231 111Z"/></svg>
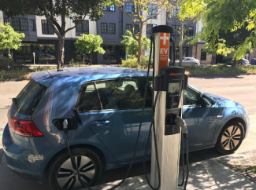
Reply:
<svg viewBox="0 0 256 190"><path fill-rule="evenodd" d="M80 171L80 177L82 181L90 185L92 178L95 176L95 164L87 156L79 155L74 157L76 166ZM80 189L83 188L78 175L75 170L75 166L72 166L71 159L68 159L63 163L58 170L58 184L64 189Z"/></svg>

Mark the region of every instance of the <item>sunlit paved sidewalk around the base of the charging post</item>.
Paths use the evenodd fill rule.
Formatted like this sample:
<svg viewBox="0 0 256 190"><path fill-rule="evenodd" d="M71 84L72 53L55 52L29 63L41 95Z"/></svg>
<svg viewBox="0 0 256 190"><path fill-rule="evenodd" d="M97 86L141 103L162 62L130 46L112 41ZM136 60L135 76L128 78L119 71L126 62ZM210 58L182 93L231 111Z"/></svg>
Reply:
<svg viewBox="0 0 256 190"><path fill-rule="evenodd" d="M1 151L0 149L0 152ZM247 162L249 164L256 164L256 159L251 159L253 156L255 157L255 154L256 150L191 164L187 190L256 189L256 183L253 178L249 179L239 174L236 170L232 170L233 163L243 163L244 160L250 160L250 163ZM182 178L181 174L182 173L180 173L180 179ZM13 183L13 181L15 181L15 183ZM113 187L113 185L117 185L119 182L120 181L114 181L104 185L98 185L93 187L93 189L106 190ZM48 190L49 188L47 188L46 185L39 185L36 182L25 181L21 177L13 174L6 165L6 159L2 156L0 163L0 189ZM181 189L183 188L179 188L179 190ZM120 188L117 188L117 190L150 190L150 187L147 185L144 176L138 176L126 179L124 184L121 185ZM170 190L173 189L170 188Z"/></svg>

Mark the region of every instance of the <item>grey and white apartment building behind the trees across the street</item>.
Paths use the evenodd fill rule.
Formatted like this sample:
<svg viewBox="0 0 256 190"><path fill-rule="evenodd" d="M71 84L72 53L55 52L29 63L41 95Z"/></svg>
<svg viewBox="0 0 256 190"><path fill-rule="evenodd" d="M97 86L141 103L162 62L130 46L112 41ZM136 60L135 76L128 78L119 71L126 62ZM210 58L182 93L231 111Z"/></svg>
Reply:
<svg viewBox="0 0 256 190"><path fill-rule="evenodd" d="M149 11L154 12L154 9L157 8L158 5L150 5ZM130 2L126 2L123 9L128 13L132 13L135 10ZM76 28L65 35L65 64L68 64L72 59L83 60L83 56L86 62L89 62L89 55L76 53L74 47L74 42L82 33L100 35L103 39L102 47L106 53L104 55L93 53L93 64L121 64L121 60L125 59L126 53L121 41L125 31L132 29L132 20L115 5L106 6L104 14L102 19L97 22L91 21L86 17L79 26L76 26ZM146 17L147 14L143 13L143 16ZM26 36L21 48L13 51L14 60L33 64L33 53L35 53L35 64L57 63L58 37L54 35L53 29L44 16L15 16L9 18L3 13L2 20L5 24L12 25L14 30L23 32ZM180 27L179 20L177 20L177 23L178 29ZM154 26L169 25L175 28L175 24L176 20L168 18L167 13L162 11L158 16L148 20L147 25L143 27L143 35L149 37L151 35L151 28ZM72 20L66 19L66 28L72 26ZM187 35L195 35L201 28L202 26L198 24L189 24L186 31ZM135 32L138 31L139 24L135 23ZM211 55L206 55L202 51L204 42L199 42L196 46L189 46L187 42L184 42L183 57L195 57L201 60L202 64L211 62ZM177 45L178 43L179 35ZM179 53L179 49L177 50ZM143 53L147 54L148 50L145 49ZM170 59L173 59L173 44L170 44Z"/></svg>

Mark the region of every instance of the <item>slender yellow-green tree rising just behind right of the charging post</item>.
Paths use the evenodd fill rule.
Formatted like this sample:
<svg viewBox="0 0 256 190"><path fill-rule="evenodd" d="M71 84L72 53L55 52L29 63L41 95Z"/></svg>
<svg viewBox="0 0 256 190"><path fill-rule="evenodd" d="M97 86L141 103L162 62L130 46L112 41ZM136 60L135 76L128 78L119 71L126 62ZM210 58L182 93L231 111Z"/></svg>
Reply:
<svg viewBox="0 0 256 190"><path fill-rule="evenodd" d="M184 40L187 39L185 33L191 24L194 24L202 18L202 13L206 8L206 3L204 0L176 0L173 1L173 5L173 14L170 17L175 17L180 20L178 33L180 35L180 67L182 67L183 43ZM184 25L186 25L186 27L184 27Z"/></svg>

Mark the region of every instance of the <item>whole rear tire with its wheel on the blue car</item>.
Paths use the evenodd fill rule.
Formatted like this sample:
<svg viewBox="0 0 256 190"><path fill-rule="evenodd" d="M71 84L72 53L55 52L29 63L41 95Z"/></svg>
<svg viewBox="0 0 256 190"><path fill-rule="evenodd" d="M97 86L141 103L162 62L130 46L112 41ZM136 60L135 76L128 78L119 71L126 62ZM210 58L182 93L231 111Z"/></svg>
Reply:
<svg viewBox="0 0 256 190"><path fill-rule="evenodd" d="M99 156L88 148L72 148L71 154L80 170L80 176L88 186L95 185L102 174L102 162ZM72 167L69 152L62 152L47 167L47 180L52 190L83 188Z"/></svg>

